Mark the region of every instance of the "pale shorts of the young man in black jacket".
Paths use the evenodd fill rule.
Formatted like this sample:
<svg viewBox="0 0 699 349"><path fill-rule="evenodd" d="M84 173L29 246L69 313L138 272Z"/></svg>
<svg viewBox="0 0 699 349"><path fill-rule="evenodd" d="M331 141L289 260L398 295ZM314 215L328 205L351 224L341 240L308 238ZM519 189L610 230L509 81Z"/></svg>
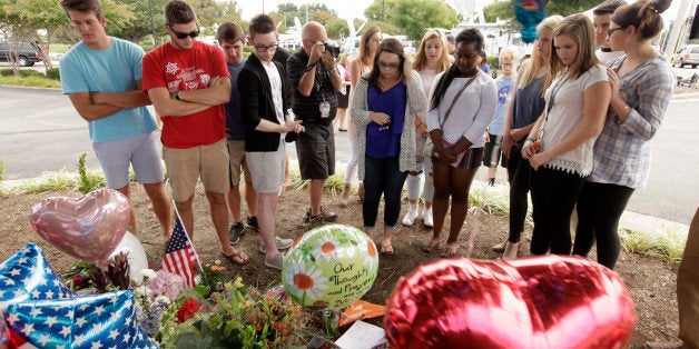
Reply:
<svg viewBox="0 0 699 349"><path fill-rule="evenodd" d="M284 141L279 142L276 151L246 152L250 173L253 174L253 188L257 193L279 192L284 181Z"/></svg>

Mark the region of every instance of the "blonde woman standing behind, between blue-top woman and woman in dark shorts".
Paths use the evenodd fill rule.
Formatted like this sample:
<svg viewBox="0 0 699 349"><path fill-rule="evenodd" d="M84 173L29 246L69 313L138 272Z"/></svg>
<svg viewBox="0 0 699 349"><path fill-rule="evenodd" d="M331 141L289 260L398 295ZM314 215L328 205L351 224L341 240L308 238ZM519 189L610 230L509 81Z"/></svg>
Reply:
<svg viewBox="0 0 699 349"><path fill-rule="evenodd" d="M446 49L446 37L439 30L431 29L422 38L420 48L415 54L415 61L413 62L413 69L417 71L422 79L422 87L425 91L425 96L430 94L432 82L434 77L440 72L446 70L451 66L449 59L449 52ZM421 112L415 116L415 146L417 161L417 171L411 171L407 176L407 200L410 208L403 217L403 225L412 226L415 222L420 213L420 191L422 179L424 177L425 182L422 188L423 199L425 201L425 208L422 211L422 220L425 227L432 228L432 195L434 193L434 185L432 183L432 161L430 159L423 159L423 148L430 133L427 132L427 113Z"/></svg>

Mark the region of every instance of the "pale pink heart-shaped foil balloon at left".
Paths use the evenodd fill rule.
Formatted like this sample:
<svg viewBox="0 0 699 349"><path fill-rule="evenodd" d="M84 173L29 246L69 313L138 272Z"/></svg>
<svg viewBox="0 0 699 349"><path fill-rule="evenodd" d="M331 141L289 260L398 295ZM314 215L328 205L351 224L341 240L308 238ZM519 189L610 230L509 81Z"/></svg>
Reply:
<svg viewBox="0 0 699 349"><path fill-rule="evenodd" d="M73 257L102 265L124 238L129 202L112 189L98 189L80 199L56 197L31 208L35 230Z"/></svg>

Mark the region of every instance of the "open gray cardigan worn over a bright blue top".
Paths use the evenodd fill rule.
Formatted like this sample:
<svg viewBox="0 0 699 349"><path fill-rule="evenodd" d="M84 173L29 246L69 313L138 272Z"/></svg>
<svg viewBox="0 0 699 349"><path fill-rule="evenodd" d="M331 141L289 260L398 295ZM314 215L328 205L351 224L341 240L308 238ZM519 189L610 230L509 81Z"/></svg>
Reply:
<svg viewBox="0 0 699 349"><path fill-rule="evenodd" d="M422 88L422 80L416 71L413 79L407 81L407 103L405 106L405 122L401 134L401 153L398 154L398 168L401 171L414 171L415 162L415 114L427 110L427 98ZM357 162L360 164L358 177L364 180L364 161L366 157L366 126L372 122L368 117L371 110L366 101L368 91L368 74L360 79L352 99L352 121L357 126Z"/></svg>

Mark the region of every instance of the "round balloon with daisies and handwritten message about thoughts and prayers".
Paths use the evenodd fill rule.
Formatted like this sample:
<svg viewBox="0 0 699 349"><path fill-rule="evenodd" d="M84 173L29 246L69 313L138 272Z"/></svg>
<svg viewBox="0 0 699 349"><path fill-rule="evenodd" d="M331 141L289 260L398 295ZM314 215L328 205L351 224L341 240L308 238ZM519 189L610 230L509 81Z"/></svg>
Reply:
<svg viewBox="0 0 699 349"><path fill-rule="evenodd" d="M284 258L282 281L303 307L339 310L372 288L377 271L376 246L364 231L329 225L294 242Z"/></svg>

